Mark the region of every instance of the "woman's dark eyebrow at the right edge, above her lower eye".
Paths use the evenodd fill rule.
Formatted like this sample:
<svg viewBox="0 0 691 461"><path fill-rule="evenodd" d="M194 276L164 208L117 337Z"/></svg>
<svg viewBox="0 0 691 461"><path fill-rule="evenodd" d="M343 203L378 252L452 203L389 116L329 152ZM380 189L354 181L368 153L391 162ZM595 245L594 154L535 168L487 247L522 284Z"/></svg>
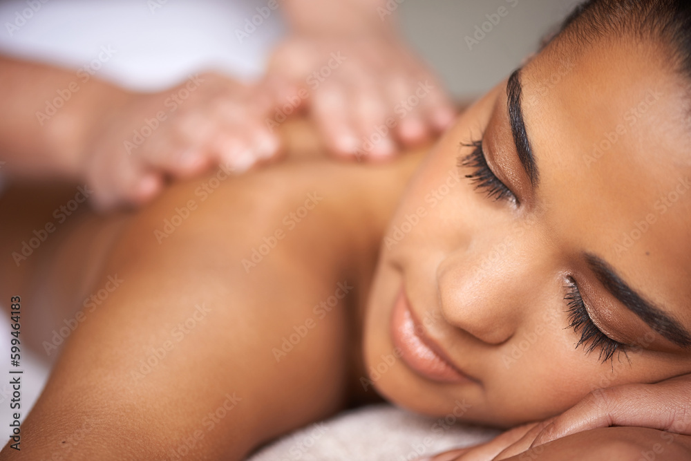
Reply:
<svg viewBox="0 0 691 461"><path fill-rule="evenodd" d="M645 301L624 283L612 266L594 254L585 254L585 261L605 289L650 328L682 348L691 346L691 334L681 326L681 323L652 303Z"/></svg>

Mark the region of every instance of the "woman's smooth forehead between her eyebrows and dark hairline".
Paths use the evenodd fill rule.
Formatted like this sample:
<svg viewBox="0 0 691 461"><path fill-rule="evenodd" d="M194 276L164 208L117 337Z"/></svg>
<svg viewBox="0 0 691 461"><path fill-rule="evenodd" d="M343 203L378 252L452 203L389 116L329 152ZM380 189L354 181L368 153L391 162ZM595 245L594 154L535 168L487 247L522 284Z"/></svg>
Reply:
<svg viewBox="0 0 691 461"><path fill-rule="evenodd" d="M559 247L608 261L632 288L691 321L691 145L683 79L652 44L549 46L521 74Z"/></svg>

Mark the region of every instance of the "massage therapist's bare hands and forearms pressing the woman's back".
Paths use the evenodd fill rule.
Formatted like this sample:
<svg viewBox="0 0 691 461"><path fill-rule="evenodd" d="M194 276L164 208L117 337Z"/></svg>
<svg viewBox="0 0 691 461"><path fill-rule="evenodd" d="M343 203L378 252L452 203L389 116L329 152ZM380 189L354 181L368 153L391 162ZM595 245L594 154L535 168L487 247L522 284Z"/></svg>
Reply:
<svg viewBox="0 0 691 461"><path fill-rule="evenodd" d="M169 178L217 164L243 173L278 158L277 129L290 114L312 115L325 147L348 160L389 160L453 122L442 85L401 41L386 1L280 6L273 14L285 13L291 35L266 75L246 84L200 72L137 93L84 69L0 56L0 166L86 182L93 203L113 209L147 203Z"/></svg>

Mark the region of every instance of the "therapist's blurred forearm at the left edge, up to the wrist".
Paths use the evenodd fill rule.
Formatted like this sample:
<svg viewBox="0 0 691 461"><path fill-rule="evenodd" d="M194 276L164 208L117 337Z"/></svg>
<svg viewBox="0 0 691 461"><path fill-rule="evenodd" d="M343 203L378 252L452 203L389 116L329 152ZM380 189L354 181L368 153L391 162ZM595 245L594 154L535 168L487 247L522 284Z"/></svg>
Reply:
<svg viewBox="0 0 691 461"><path fill-rule="evenodd" d="M86 72L0 56L0 171L79 180L96 120L125 97Z"/></svg>

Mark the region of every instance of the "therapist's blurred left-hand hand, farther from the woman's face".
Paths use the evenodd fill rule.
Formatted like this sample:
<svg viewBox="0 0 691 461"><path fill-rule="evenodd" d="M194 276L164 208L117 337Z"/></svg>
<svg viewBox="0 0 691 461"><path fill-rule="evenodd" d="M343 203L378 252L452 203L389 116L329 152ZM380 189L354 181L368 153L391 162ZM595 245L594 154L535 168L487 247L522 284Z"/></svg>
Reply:
<svg viewBox="0 0 691 461"><path fill-rule="evenodd" d="M240 173L276 156L277 134L264 124L272 91L207 73L159 93L127 95L94 122L84 149L81 176L95 205L142 204L161 191L165 176L189 177L214 164Z"/></svg>

